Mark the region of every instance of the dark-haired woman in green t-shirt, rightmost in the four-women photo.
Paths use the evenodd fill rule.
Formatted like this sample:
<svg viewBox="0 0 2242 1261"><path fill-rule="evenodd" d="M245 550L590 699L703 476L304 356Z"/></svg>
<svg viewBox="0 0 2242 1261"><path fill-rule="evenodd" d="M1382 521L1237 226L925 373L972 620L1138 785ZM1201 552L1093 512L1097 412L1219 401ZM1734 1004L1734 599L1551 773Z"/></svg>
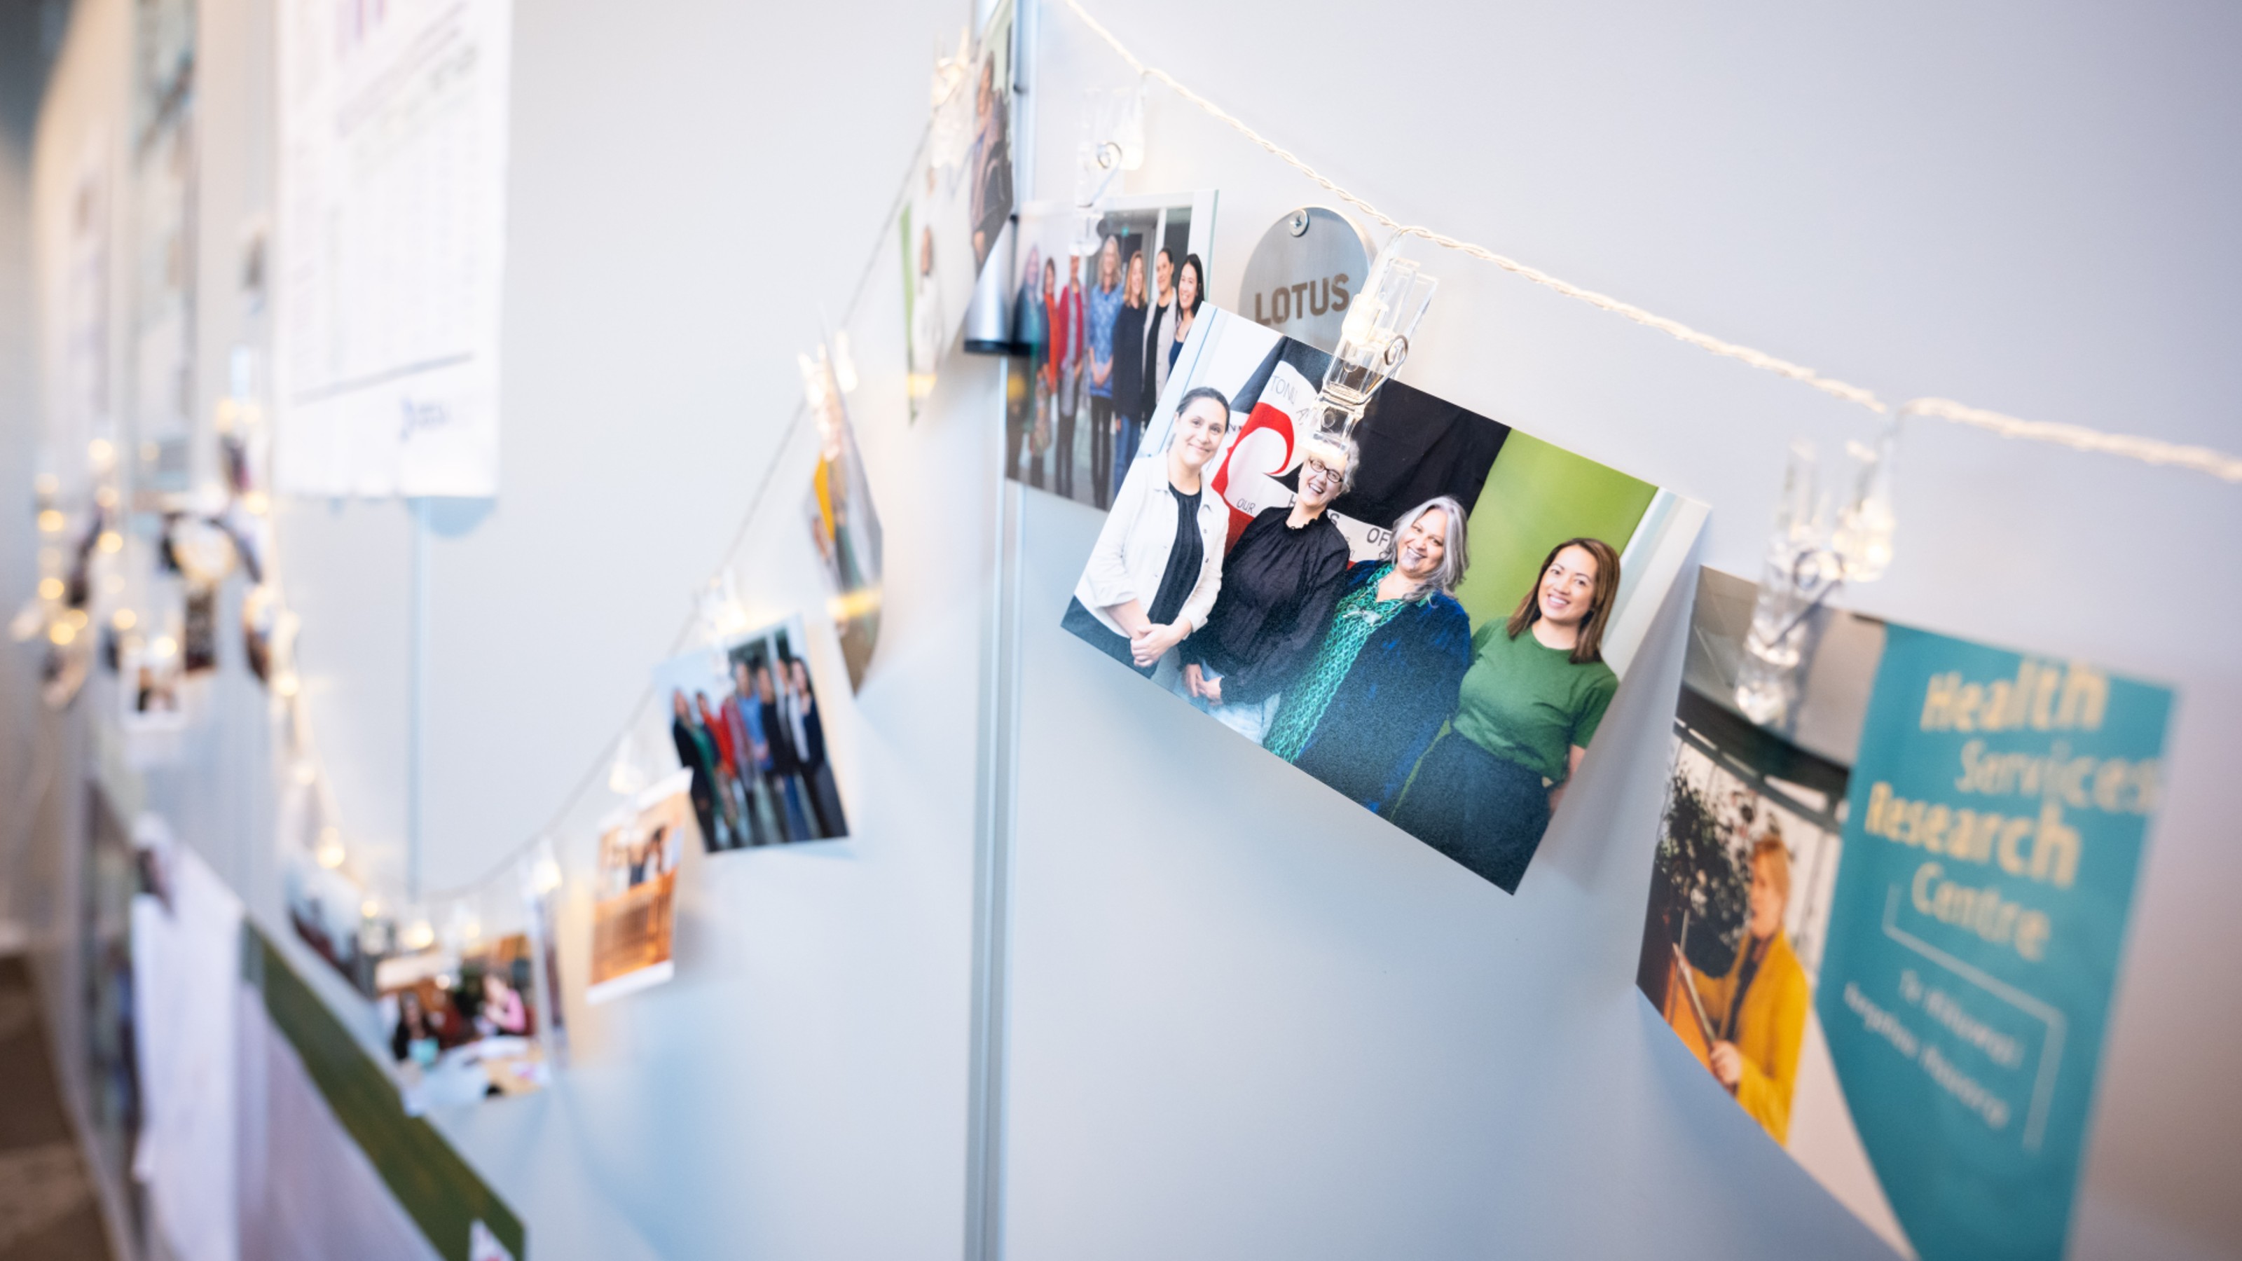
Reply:
<svg viewBox="0 0 2242 1261"><path fill-rule="evenodd" d="M1619 691L1619 675L1603 664L1614 595L1619 552L1610 543L1567 539L1549 550L1518 613L1471 637L1455 718L1401 797L1397 828L1518 893Z"/></svg>

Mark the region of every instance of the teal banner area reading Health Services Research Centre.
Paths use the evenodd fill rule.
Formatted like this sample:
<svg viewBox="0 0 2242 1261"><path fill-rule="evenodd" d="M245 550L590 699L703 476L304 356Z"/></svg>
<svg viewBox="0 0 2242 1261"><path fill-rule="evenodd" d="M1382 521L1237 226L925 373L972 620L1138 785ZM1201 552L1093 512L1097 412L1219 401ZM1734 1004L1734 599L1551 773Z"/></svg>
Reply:
<svg viewBox="0 0 2242 1261"><path fill-rule="evenodd" d="M1926 1261L2063 1252L2170 709L1888 630L1814 1001Z"/></svg>

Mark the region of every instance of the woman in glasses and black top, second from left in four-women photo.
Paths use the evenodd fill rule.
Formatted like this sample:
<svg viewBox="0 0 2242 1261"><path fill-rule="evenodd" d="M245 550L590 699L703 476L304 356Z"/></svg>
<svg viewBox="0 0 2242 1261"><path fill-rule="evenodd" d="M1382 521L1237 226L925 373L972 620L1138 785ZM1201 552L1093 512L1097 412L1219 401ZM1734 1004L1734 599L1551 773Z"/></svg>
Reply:
<svg viewBox="0 0 2242 1261"><path fill-rule="evenodd" d="M1175 691L1256 745L1269 734L1285 684L1332 624L1347 581L1347 536L1332 507L1354 480L1356 451L1309 447L1289 505L1264 507L1222 559L1222 599L1184 639Z"/></svg>

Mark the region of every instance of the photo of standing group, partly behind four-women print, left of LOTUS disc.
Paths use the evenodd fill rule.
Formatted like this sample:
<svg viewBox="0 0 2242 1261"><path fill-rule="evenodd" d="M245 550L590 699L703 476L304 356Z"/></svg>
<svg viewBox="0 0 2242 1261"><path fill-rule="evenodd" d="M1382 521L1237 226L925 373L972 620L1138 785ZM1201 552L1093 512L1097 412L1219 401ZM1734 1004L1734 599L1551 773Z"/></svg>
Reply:
<svg viewBox="0 0 2242 1261"><path fill-rule="evenodd" d="M1108 509L1206 296L1215 193L1020 215L1004 476ZM1087 236L1085 236L1087 231Z"/></svg>

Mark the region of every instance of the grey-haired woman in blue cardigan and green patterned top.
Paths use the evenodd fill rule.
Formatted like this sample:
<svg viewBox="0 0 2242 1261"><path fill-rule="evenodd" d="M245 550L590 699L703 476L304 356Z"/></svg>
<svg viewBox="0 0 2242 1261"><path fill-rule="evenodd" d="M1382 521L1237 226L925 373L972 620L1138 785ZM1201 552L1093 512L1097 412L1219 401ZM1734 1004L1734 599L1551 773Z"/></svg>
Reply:
<svg viewBox="0 0 2242 1261"><path fill-rule="evenodd" d="M1451 595L1466 561L1460 503L1437 496L1403 512L1390 559L1347 568L1262 747L1390 814L1471 669L1471 617Z"/></svg>

